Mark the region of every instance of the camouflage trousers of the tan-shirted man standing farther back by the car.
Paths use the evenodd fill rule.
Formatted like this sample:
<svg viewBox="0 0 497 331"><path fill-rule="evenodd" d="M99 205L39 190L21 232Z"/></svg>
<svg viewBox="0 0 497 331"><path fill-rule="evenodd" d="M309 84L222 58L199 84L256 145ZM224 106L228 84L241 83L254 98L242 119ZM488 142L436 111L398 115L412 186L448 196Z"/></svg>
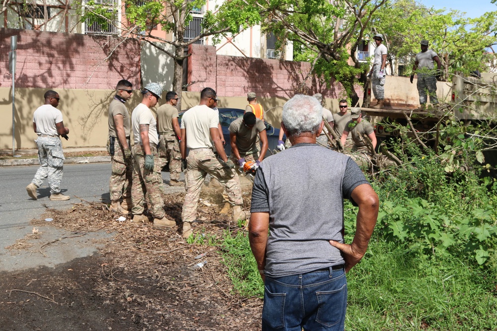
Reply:
<svg viewBox="0 0 497 331"><path fill-rule="evenodd" d="M181 152L179 142L174 132L161 133L159 139L159 160L161 168L169 163L169 178L171 181L179 181L181 173Z"/></svg>

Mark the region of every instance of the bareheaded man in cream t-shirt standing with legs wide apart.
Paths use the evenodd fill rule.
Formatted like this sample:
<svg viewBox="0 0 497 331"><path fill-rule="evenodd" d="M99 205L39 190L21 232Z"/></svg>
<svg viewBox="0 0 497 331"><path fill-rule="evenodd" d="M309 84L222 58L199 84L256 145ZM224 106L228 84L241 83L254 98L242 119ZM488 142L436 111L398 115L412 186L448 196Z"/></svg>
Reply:
<svg viewBox="0 0 497 331"><path fill-rule="evenodd" d="M196 218L200 190L207 174L223 185L233 205L233 220L245 220L248 212L242 211L242 189L234 163L228 159L219 138L219 117L212 109L217 100L216 92L204 88L200 93L200 104L187 110L181 120L181 158L185 170L186 196L183 203L183 237L192 234L191 223ZM189 148L186 158L186 148ZM220 160L214 154L215 148Z"/></svg>

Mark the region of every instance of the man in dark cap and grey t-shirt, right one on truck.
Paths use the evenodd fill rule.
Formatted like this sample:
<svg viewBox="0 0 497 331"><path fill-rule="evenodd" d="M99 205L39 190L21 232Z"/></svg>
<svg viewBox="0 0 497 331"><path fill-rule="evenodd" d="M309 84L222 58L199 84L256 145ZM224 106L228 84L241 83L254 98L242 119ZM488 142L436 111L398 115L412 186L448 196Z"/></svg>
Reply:
<svg viewBox="0 0 497 331"><path fill-rule="evenodd" d="M436 62L437 70L434 70L433 61ZM438 99L436 97L436 81L439 79L440 59L438 55L432 50L428 49L428 41L421 40L421 52L416 54L416 60L413 66L413 73L411 74L411 83L414 80L414 73L417 71L417 92L419 93L419 104L421 108L424 108L426 102L428 101L428 95L430 96L430 103L432 105L438 104Z"/></svg>

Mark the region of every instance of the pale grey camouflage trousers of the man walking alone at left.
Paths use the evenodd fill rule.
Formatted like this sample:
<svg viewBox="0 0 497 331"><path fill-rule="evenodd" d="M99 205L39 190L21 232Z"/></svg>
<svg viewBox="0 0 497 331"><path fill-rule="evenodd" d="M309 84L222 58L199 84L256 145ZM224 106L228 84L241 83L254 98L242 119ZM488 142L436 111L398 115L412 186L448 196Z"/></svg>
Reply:
<svg viewBox="0 0 497 331"><path fill-rule="evenodd" d="M48 178L50 194L61 193L61 181L64 167L64 152L62 151L61 139L55 137L38 137L38 160L40 167L34 175L33 183L40 187Z"/></svg>

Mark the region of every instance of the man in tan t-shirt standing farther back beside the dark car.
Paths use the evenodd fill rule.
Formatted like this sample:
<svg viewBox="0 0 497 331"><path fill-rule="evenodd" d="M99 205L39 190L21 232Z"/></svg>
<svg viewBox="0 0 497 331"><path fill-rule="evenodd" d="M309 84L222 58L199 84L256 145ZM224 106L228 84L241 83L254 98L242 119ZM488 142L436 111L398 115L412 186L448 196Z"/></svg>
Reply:
<svg viewBox="0 0 497 331"><path fill-rule="evenodd" d="M166 93L166 103L157 109L157 130L159 132L159 157L161 166L169 163L169 185L180 186L181 153L178 137L181 132L178 123L178 95L176 92Z"/></svg>

